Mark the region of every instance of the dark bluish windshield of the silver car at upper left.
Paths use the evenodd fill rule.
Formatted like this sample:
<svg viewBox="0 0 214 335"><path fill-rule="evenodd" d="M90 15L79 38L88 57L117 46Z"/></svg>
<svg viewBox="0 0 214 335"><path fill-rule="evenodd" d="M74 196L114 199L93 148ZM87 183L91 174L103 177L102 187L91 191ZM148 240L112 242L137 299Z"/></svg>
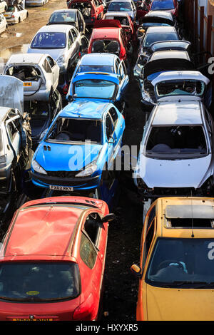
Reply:
<svg viewBox="0 0 214 335"><path fill-rule="evenodd" d="M58 49L65 47L65 33L37 33L31 43L31 48L38 49Z"/></svg>

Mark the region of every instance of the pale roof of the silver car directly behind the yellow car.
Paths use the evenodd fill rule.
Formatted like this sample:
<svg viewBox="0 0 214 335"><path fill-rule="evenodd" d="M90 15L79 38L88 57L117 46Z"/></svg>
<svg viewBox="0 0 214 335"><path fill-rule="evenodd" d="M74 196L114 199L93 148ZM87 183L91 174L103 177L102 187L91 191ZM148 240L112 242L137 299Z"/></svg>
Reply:
<svg viewBox="0 0 214 335"><path fill-rule="evenodd" d="M202 125L200 101L158 103L152 125Z"/></svg>

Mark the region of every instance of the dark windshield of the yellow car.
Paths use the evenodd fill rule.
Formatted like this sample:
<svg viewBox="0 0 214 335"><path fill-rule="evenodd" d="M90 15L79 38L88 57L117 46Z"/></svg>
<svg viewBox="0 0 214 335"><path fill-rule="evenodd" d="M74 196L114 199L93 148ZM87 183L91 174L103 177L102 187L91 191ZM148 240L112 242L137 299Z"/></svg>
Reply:
<svg viewBox="0 0 214 335"><path fill-rule="evenodd" d="M205 288L214 285L214 239L159 238L146 282L158 287Z"/></svg>

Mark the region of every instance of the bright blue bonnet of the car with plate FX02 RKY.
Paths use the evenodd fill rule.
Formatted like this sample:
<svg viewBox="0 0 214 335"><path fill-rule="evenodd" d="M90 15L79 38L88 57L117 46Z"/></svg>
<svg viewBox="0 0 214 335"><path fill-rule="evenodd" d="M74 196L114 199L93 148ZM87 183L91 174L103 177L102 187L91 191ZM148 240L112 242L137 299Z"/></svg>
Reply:
<svg viewBox="0 0 214 335"><path fill-rule="evenodd" d="M45 146L49 146L49 150L45 150ZM97 160L101 148L103 145L100 144L68 145L43 142L39 145L34 159L46 171L78 171Z"/></svg>

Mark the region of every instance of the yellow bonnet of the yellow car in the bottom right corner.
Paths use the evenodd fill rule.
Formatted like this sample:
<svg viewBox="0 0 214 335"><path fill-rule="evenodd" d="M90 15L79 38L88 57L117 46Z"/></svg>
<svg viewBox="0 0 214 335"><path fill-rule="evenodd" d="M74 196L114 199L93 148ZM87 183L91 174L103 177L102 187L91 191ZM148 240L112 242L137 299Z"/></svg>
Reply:
<svg viewBox="0 0 214 335"><path fill-rule="evenodd" d="M165 289L146 285L148 321L213 320L211 289Z"/></svg>

